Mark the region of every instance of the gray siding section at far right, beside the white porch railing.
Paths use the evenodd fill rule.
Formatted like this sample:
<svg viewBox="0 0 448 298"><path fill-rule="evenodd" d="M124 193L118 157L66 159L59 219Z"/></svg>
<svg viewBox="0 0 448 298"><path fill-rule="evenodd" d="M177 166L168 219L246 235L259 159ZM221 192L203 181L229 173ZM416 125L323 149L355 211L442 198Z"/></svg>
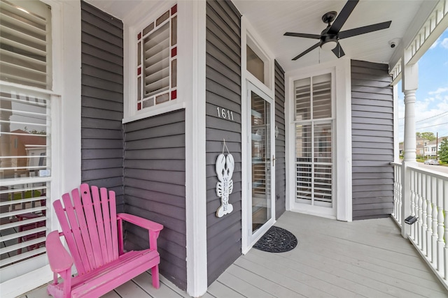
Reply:
<svg viewBox="0 0 448 298"><path fill-rule="evenodd" d="M388 66L351 61L353 220L393 210L393 88Z"/></svg>

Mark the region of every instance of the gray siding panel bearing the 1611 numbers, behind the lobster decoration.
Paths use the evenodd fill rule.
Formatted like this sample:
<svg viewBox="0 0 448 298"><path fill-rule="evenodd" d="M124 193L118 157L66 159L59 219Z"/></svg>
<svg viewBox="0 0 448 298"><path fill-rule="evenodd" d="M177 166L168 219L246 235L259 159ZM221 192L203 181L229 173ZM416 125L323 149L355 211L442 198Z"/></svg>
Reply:
<svg viewBox="0 0 448 298"><path fill-rule="evenodd" d="M241 255L241 26L230 1L207 1L206 173L207 271L210 285ZM216 107L233 112L234 120L218 117ZM230 195L231 214L216 217L215 163L223 140L235 158Z"/></svg>

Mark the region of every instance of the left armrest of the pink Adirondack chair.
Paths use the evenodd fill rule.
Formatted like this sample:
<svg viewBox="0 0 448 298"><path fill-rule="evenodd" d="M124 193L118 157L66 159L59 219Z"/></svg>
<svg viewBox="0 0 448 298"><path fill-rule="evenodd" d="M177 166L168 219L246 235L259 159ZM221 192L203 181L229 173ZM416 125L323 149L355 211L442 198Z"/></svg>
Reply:
<svg viewBox="0 0 448 298"><path fill-rule="evenodd" d="M47 248L48 262L50 263L51 271L59 273L71 268L73 259L62 245L58 231L52 231L48 234L47 239L45 240L45 246Z"/></svg>

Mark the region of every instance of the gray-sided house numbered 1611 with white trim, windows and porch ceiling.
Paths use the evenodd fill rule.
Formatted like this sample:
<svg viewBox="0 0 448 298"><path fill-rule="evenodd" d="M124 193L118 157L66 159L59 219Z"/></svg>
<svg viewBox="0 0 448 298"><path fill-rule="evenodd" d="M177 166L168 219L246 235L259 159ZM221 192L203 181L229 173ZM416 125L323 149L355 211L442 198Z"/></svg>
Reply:
<svg viewBox="0 0 448 298"><path fill-rule="evenodd" d="M344 57L315 45L291 61L319 37L283 33L320 33L321 15L346 1L1 0L1 136L35 124L51 137L39 164L50 171L15 177L18 165L2 163L1 201L12 209L16 186L44 183L51 201L80 182L110 188L119 211L165 226L160 273L195 297L285 210L390 216L395 86L402 78L412 112L416 62L447 27L446 1L397 2L358 3L343 30L391 27L341 41ZM1 142L3 159L15 154L9 144ZM235 161L232 212L222 216L220 154ZM127 248L147 245L136 228L125 237ZM2 292L11 296L52 278L45 248L15 254L16 240L1 248Z"/></svg>

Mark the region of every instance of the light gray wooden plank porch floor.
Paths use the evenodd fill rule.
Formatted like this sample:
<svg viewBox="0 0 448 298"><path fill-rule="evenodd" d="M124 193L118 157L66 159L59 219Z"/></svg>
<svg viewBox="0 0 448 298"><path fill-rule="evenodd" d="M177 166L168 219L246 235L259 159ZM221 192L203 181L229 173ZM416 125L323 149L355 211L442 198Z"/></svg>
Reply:
<svg viewBox="0 0 448 298"><path fill-rule="evenodd" d="M251 249L203 297L448 297L390 218L344 223L286 212L276 225L297 237L293 251ZM189 297L161 281L155 290L145 273L104 297ZM23 297L48 296L39 288Z"/></svg>

